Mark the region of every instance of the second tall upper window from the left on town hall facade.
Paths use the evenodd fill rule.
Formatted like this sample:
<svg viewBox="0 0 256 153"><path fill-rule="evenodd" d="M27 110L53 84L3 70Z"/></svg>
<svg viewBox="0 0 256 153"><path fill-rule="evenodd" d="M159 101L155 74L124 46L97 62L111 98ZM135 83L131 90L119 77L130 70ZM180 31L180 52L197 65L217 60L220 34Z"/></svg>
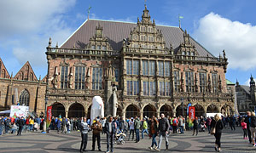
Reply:
<svg viewBox="0 0 256 153"><path fill-rule="evenodd" d="M75 71L75 89L84 89L85 84L85 67L76 66Z"/></svg>

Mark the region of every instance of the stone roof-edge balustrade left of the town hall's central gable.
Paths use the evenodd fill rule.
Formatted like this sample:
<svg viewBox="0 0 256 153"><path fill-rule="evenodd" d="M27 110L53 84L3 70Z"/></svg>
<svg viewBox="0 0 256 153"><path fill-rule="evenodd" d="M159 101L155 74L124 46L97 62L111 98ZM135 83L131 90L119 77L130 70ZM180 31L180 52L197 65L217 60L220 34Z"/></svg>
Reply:
<svg viewBox="0 0 256 153"><path fill-rule="evenodd" d="M89 49L89 48L47 48L47 53L57 54L93 54L93 55L119 55L118 51Z"/></svg>

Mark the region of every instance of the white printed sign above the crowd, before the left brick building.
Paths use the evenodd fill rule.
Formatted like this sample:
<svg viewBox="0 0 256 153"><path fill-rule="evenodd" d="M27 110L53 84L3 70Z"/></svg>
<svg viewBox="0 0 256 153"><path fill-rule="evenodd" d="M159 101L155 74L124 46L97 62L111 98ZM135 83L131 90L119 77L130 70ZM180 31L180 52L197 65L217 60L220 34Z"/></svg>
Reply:
<svg viewBox="0 0 256 153"><path fill-rule="evenodd" d="M9 116L14 117L14 118L21 117L21 116L26 117L28 111L29 111L29 106L26 106L26 105L12 105Z"/></svg>

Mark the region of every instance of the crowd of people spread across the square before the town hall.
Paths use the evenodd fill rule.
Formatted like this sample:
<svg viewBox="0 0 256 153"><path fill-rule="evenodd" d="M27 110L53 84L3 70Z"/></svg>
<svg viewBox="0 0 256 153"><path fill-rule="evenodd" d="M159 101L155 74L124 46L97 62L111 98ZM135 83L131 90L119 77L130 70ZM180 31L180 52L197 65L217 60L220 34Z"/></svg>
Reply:
<svg viewBox="0 0 256 153"><path fill-rule="evenodd" d="M9 116L0 117L0 135L4 133L17 133L21 135L22 130L38 131L43 130L44 117L16 117L11 118ZM192 126L191 126L192 125ZM193 130L193 136L199 132L205 132L214 134L215 150L221 151L221 133L222 129L230 127L231 130L236 130L236 127L241 126L243 129L243 139L249 139L249 142L255 144L256 133L256 116L254 112L247 111L247 116L219 116L214 117L195 117L193 124L189 124L188 120L183 116L165 116L160 114L160 117L144 116L143 120L140 120L138 116L131 118L123 118L119 116L108 116L101 118L97 116L93 121L87 119L85 116L78 118L66 118L66 117L52 117L48 130L56 130L57 133L70 133L71 131L79 131L81 133L81 145L80 151L86 150L88 133L92 131L92 151L97 148L102 151L101 148L101 135L106 134L107 137L107 152L113 152L113 144L116 142L117 135L124 133L127 135L128 141L135 141L139 143L141 139L144 139L144 134L148 135L149 139L152 139L152 144L148 147L149 150L161 150L162 139L165 138L166 150L168 150L169 142L168 136L170 133L183 134L185 130ZM212 132L214 129L214 133ZM101 134L102 133L102 134ZM157 141L157 136L159 137ZM125 138L122 138L125 139Z"/></svg>

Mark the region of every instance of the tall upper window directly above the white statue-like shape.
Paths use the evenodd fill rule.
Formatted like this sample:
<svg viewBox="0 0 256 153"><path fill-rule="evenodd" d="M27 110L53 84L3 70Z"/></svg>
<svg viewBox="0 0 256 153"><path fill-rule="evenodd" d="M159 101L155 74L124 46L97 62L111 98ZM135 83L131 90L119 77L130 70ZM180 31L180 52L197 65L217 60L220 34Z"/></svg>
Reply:
<svg viewBox="0 0 256 153"><path fill-rule="evenodd" d="M102 89L102 68L94 67L92 71L92 89L101 90Z"/></svg>

